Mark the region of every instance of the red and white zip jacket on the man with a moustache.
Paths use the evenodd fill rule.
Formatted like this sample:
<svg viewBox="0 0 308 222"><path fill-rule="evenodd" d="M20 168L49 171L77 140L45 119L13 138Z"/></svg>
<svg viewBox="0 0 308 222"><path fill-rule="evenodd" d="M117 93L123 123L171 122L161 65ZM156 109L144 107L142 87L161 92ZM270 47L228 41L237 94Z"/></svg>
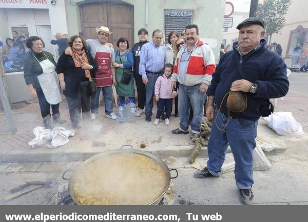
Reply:
<svg viewBox="0 0 308 222"><path fill-rule="evenodd" d="M178 68L181 63L180 58L184 52L182 47L177 55L174 70L172 73L172 81L179 82L184 86L195 86L205 83L210 84L211 75L215 71L215 58L211 48L204 44L202 41L198 41L192 50L189 58L185 78L178 76Z"/></svg>

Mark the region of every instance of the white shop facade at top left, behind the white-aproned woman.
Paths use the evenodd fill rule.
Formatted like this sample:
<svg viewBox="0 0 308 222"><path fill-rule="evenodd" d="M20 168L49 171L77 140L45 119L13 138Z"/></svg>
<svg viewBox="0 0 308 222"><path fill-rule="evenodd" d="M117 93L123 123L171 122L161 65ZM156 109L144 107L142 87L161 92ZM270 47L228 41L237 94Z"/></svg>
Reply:
<svg viewBox="0 0 308 222"><path fill-rule="evenodd" d="M12 31L41 36L46 51L55 56L50 44L56 32L68 33L64 0L3 0L0 3L0 40L12 38ZM64 21L64 22L63 22Z"/></svg>

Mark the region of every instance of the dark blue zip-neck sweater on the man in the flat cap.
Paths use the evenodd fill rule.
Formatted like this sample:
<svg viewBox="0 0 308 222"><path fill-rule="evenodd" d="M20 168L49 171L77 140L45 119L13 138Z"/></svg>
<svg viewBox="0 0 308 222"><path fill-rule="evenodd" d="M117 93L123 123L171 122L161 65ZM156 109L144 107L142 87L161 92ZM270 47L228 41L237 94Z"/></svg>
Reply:
<svg viewBox="0 0 308 222"><path fill-rule="evenodd" d="M231 84L242 79L235 60L240 59L240 54L233 44L233 50L225 53L213 73L213 79L208 87L207 95L214 95L214 103L219 108L222 98L229 92ZM242 57L242 69L249 82L257 83L257 93L245 93L247 96L247 108L241 113L230 112L234 118L259 119L261 116L261 101L266 98L279 98L286 95L288 91L288 80L286 76L286 65L282 58L275 52L266 48L266 41L261 40L258 47ZM226 107L227 96L223 101L221 112L228 114Z"/></svg>

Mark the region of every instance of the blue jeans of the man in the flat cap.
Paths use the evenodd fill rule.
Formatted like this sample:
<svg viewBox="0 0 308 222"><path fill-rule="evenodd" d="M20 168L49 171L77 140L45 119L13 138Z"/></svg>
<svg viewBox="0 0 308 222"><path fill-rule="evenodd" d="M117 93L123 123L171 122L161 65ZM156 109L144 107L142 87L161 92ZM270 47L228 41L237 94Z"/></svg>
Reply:
<svg viewBox="0 0 308 222"><path fill-rule="evenodd" d="M219 176L228 145L235 160L235 180L239 189L249 189L254 184L253 178L253 150L256 147L258 120L230 118L226 129L222 129L228 117L215 110L208 141L207 168L214 176Z"/></svg>

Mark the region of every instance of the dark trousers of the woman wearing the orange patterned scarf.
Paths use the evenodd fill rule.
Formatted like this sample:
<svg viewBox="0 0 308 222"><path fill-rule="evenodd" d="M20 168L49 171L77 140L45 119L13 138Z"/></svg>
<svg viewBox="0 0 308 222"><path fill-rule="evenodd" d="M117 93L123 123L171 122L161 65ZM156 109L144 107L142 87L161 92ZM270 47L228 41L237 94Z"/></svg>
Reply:
<svg viewBox="0 0 308 222"><path fill-rule="evenodd" d="M66 96L72 125L76 126L79 124L81 112L83 118L90 117L90 95L88 94L88 84L88 81L79 83L79 90L76 98Z"/></svg>

